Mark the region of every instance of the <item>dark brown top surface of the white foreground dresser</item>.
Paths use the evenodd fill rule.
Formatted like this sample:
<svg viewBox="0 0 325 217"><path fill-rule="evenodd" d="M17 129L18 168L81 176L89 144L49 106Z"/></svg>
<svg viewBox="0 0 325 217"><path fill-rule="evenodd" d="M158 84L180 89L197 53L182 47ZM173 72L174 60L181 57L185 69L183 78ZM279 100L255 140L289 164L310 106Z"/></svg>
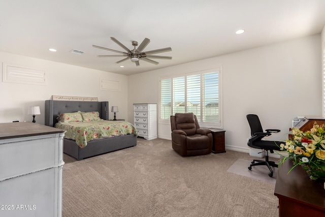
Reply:
<svg viewBox="0 0 325 217"><path fill-rule="evenodd" d="M26 136L39 136L46 134L63 133L57 128L40 125L32 122L0 123L0 139L11 139Z"/></svg>

